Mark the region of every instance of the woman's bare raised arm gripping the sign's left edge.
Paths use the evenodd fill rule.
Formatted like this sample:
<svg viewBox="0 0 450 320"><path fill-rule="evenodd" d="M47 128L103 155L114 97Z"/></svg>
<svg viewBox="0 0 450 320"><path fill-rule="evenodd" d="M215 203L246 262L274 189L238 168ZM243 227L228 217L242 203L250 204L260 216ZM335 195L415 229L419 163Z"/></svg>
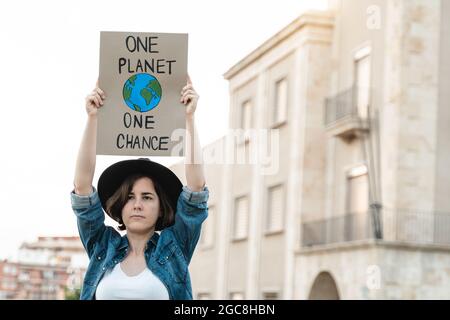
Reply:
<svg viewBox="0 0 450 320"><path fill-rule="evenodd" d="M92 180L95 172L95 158L97 148L97 111L103 105L104 92L97 86L86 97L86 112L88 119L78 151L75 167L74 187L78 195L92 193Z"/></svg>

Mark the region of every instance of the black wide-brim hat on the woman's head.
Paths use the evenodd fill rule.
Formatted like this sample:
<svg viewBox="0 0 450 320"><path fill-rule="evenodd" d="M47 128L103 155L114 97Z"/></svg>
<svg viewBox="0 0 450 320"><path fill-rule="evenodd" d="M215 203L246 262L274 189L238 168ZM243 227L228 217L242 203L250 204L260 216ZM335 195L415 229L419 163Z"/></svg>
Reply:
<svg viewBox="0 0 450 320"><path fill-rule="evenodd" d="M98 179L97 190L105 212L106 201L129 176L134 174L144 174L152 180L156 180L169 198L173 212L176 212L177 201L183 184L169 168L147 158L119 161L103 171ZM106 213L109 215L108 212Z"/></svg>

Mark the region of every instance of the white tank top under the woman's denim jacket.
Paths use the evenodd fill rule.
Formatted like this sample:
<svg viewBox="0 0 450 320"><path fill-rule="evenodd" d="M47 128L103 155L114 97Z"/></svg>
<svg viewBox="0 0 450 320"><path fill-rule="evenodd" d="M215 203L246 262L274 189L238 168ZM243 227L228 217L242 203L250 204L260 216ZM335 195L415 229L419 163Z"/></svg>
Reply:
<svg viewBox="0 0 450 320"><path fill-rule="evenodd" d="M169 293L153 272L145 268L136 276L127 276L120 263L105 273L97 286L97 300L168 300Z"/></svg>

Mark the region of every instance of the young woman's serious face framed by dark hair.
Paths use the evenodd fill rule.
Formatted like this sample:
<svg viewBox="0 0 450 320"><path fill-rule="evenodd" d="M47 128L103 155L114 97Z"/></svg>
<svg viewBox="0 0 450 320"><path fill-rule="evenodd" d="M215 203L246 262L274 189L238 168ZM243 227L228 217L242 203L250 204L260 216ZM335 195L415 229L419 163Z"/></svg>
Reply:
<svg viewBox="0 0 450 320"><path fill-rule="evenodd" d="M148 233L155 230L159 217L159 198L149 178L136 180L122 208L122 220L128 232Z"/></svg>

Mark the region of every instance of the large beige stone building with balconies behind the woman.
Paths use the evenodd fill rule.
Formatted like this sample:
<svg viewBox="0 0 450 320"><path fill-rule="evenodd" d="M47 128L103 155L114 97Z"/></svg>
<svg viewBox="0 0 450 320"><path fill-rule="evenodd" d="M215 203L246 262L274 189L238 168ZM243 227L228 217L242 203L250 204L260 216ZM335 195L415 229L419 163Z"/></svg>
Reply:
<svg viewBox="0 0 450 320"><path fill-rule="evenodd" d="M275 142L205 147L197 298L450 299L449 16L331 0L226 72L230 128Z"/></svg>

